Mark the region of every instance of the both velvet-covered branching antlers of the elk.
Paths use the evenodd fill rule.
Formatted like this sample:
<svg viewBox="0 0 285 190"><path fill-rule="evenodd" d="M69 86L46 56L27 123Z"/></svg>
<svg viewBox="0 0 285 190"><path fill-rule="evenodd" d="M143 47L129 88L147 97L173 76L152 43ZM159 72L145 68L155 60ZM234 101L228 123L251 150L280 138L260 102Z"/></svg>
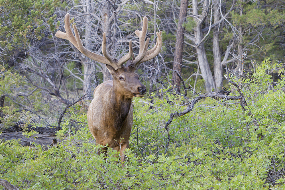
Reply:
<svg viewBox="0 0 285 190"><path fill-rule="evenodd" d="M151 50L147 51L148 43L149 43L149 38L147 38L147 40L145 42L147 25L148 25L148 19L146 17L144 17L143 18L142 31L136 30L136 32L135 32L136 35L140 39L139 55L136 58L133 55L132 41L129 42L129 53L127 55L123 56L119 60L110 56L110 54L106 50L106 33L105 32L103 33L103 42L102 42L102 53L105 57L87 50L83 46L82 41L80 40L80 35L79 35L79 32L78 32L75 25L73 25L75 36L72 33L72 30L70 27L70 15L69 15L69 13L67 13L65 15L65 18L64 18L64 29L66 32L62 32L59 30L56 32L55 36L58 38L69 40L81 53L83 53L87 57L89 57L95 61L110 65L115 70L117 70L118 68L122 68L122 65L130 59L132 59L130 65L133 67L137 67L138 64L141 64L142 62L145 62L145 61L148 61L148 60L154 58L160 52L161 47L162 47L162 38L161 38L162 31L156 32L156 35L157 35L156 44Z"/></svg>

